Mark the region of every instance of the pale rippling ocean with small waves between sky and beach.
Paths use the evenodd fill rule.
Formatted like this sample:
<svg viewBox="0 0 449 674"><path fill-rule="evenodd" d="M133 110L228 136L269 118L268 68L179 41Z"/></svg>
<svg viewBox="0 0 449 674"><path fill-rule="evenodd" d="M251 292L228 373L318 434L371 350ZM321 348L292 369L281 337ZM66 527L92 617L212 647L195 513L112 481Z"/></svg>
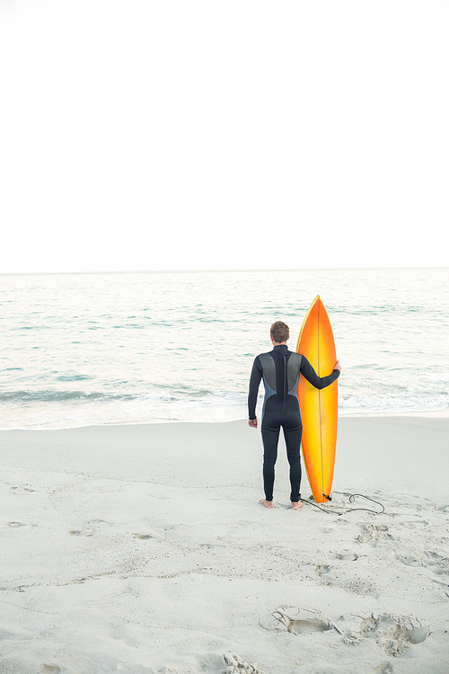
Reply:
<svg viewBox="0 0 449 674"><path fill-rule="evenodd" d="M340 415L447 411L446 268L3 275L0 428L247 418L269 326L295 350L317 295Z"/></svg>

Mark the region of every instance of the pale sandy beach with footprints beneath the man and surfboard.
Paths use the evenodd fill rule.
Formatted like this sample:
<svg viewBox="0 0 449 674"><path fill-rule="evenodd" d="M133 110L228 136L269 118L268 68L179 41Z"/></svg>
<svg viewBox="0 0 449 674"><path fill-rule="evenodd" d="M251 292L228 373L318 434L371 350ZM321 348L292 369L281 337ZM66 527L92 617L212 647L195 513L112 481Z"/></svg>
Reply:
<svg viewBox="0 0 449 674"><path fill-rule="evenodd" d="M0 432L0 672L447 674L448 431L340 419L328 512L246 421Z"/></svg>

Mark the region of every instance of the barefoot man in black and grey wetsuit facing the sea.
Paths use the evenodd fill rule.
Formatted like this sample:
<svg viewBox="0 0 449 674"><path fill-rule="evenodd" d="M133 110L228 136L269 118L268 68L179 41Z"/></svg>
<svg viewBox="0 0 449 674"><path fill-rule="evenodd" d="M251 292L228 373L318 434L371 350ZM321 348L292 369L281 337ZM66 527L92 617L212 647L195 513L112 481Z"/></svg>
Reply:
<svg viewBox="0 0 449 674"><path fill-rule="evenodd" d="M273 350L260 353L254 360L248 395L249 425L257 428L256 404L260 379L263 377L265 399L262 411L263 442L263 488L265 499L260 503L273 508L273 486L275 482L275 464L277 459L277 441L282 426L286 439L286 456L290 464L290 501L292 508L299 510L303 503L299 492L301 484L300 448L303 423L299 409L296 386L300 374L316 388L325 388L339 377L341 366L335 364L328 377L318 377L309 361L299 353L289 351L286 341L290 337L288 325L277 321L271 325L270 337Z"/></svg>

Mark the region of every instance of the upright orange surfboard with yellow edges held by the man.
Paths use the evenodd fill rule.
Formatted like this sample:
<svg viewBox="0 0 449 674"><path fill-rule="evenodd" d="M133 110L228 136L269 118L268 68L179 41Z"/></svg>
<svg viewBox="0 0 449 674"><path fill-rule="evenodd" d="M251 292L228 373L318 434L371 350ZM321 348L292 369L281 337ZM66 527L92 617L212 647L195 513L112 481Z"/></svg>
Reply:
<svg viewBox="0 0 449 674"><path fill-rule="evenodd" d="M337 362L335 341L326 307L318 295L305 315L296 351L319 377L327 377ZM330 500L339 420L338 380L321 391L299 377L297 393L303 418L304 464L317 503Z"/></svg>

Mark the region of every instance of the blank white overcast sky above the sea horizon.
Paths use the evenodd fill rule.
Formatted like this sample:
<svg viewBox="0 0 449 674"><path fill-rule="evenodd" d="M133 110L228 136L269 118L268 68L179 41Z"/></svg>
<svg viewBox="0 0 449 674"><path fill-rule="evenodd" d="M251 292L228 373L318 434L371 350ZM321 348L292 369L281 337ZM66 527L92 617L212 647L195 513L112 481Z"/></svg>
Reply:
<svg viewBox="0 0 449 674"><path fill-rule="evenodd" d="M446 0L0 0L0 272L447 266Z"/></svg>

